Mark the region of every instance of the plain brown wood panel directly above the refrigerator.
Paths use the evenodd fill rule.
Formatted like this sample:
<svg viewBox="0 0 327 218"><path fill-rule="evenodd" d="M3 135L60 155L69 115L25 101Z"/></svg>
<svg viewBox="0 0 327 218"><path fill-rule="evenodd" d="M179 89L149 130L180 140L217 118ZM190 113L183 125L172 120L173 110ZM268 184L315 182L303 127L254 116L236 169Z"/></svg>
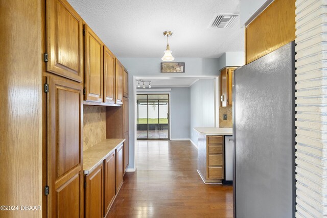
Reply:
<svg viewBox="0 0 327 218"><path fill-rule="evenodd" d="M246 64L295 40L295 0L275 0L245 29Z"/></svg>

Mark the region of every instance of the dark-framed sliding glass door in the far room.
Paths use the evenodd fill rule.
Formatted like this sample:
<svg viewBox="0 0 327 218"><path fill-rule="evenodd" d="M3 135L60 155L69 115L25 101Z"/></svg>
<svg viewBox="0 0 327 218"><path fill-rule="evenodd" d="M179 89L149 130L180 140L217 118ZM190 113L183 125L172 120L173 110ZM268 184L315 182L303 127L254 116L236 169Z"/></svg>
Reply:
<svg viewBox="0 0 327 218"><path fill-rule="evenodd" d="M169 139L169 94L137 94L137 139Z"/></svg>

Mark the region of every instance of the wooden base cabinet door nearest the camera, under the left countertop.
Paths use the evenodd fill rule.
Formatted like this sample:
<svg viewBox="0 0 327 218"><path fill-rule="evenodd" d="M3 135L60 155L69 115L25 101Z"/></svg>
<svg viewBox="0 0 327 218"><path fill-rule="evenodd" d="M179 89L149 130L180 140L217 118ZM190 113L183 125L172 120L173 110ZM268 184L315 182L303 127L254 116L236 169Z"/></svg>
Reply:
<svg viewBox="0 0 327 218"><path fill-rule="evenodd" d="M103 217L103 164L85 176L85 217Z"/></svg>

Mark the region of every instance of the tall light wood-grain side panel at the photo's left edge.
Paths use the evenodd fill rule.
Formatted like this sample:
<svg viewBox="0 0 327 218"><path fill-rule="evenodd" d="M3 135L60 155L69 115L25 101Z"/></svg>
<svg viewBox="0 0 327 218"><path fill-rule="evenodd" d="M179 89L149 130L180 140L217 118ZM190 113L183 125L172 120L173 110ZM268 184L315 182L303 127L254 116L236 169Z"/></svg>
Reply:
<svg viewBox="0 0 327 218"><path fill-rule="evenodd" d="M0 3L0 205L42 205L42 9L41 1ZM0 210L0 217L42 211Z"/></svg>

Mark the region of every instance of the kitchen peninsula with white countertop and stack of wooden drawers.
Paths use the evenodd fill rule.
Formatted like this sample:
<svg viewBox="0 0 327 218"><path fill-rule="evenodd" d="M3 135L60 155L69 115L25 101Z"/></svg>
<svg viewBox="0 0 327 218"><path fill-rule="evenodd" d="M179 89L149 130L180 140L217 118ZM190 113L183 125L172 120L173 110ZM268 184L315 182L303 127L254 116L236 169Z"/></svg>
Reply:
<svg viewBox="0 0 327 218"><path fill-rule="evenodd" d="M232 135L232 128L197 127L197 172L206 184L222 183L225 179L225 137ZM228 172L229 173L229 172Z"/></svg>

